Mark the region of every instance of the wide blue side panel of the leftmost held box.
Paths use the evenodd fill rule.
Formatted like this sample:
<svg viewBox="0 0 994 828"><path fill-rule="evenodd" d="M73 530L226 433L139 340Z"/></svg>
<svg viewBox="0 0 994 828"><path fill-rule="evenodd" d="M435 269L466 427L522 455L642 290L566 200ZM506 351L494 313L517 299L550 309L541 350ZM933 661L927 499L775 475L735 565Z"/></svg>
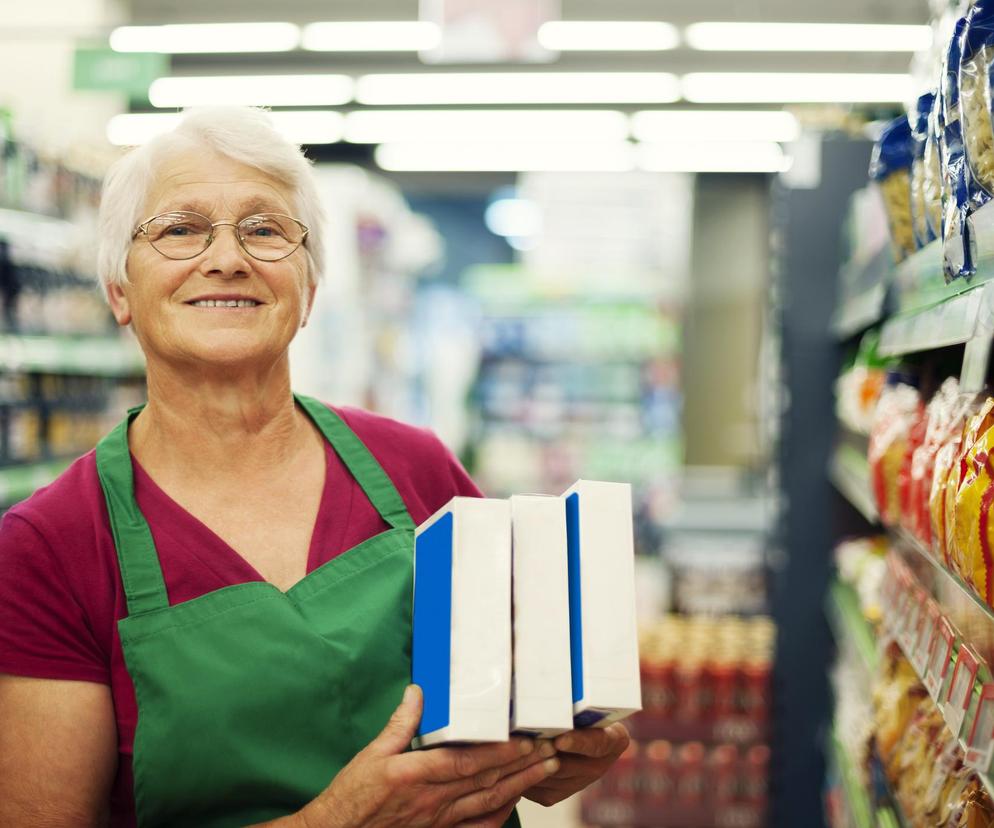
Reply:
<svg viewBox="0 0 994 828"><path fill-rule="evenodd" d="M452 655L452 513L418 535L414 545L414 639L411 674L424 694L418 735L449 724Z"/></svg>

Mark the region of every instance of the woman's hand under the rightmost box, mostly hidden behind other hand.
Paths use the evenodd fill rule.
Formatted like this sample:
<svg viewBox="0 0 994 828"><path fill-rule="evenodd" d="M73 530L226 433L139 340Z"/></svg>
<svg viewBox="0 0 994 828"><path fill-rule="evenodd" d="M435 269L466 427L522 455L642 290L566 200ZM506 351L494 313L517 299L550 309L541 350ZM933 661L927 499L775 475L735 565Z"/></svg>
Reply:
<svg viewBox="0 0 994 828"><path fill-rule="evenodd" d="M553 741L559 771L525 791L526 799L555 805L600 779L628 747L628 729L615 722L603 730L571 730Z"/></svg>

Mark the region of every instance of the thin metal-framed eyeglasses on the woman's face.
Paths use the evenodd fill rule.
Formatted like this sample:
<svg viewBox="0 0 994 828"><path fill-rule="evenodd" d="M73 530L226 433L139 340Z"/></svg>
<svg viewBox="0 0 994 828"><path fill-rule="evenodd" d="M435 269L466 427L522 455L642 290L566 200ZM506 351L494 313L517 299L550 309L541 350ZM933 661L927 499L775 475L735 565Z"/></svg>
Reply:
<svg viewBox="0 0 994 828"><path fill-rule="evenodd" d="M242 249L263 262L285 259L304 243L308 233L306 225L279 213L259 213L235 223L212 222L200 213L176 210L143 221L131 238L145 235L167 259L192 259L210 247L214 228L224 226L234 227Z"/></svg>

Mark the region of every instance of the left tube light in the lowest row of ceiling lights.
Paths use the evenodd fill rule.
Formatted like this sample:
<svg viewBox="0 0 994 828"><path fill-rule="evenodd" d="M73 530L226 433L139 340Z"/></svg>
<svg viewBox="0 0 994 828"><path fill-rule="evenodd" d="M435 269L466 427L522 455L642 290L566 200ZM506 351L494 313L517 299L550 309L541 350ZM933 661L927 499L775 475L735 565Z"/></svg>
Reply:
<svg viewBox="0 0 994 828"><path fill-rule="evenodd" d="M405 172L525 172L533 170L624 172L634 169L626 142L549 143L508 141L380 144L376 163Z"/></svg>

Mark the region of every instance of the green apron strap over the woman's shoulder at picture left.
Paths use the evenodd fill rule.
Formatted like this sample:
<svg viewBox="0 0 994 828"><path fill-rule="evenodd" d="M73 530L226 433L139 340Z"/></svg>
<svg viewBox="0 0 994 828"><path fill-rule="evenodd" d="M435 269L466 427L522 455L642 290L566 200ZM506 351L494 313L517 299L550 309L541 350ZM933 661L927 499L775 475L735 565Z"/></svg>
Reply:
<svg viewBox="0 0 994 828"><path fill-rule="evenodd" d="M128 426L142 408L144 406L130 409L128 416L97 443L97 474L107 501L121 580L128 600L128 615L169 606L152 530L135 502Z"/></svg>

